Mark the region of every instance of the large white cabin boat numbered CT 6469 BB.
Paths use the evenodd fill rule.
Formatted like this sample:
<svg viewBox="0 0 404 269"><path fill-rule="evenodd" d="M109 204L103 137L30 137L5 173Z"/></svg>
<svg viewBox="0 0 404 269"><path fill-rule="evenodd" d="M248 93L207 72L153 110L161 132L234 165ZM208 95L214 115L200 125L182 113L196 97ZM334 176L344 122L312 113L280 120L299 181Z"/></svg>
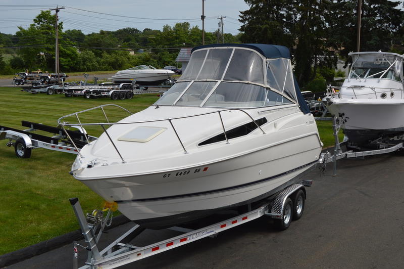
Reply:
<svg viewBox="0 0 404 269"><path fill-rule="evenodd" d="M153 106L97 123L110 127L71 173L148 228L262 200L319 159L317 126L296 87L286 47L196 47ZM71 125L68 116L59 122Z"/></svg>

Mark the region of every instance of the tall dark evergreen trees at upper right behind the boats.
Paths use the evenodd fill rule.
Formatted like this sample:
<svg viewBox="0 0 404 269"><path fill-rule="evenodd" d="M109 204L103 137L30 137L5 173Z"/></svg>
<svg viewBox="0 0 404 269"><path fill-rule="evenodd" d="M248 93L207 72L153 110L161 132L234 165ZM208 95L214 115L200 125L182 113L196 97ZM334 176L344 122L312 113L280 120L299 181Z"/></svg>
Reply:
<svg viewBox="0 0 404 269"><path fill-rule="evenodd" d="M351 0L244 0L250 7L239 21L242 42L280 44L293 55L300 85L333 78L338 58L356 52L357 5ZM402 3L359 0L360 51L404 52ZM401 8L401 9L400 9ZM317 81L318 82L318 81Z"/></svg>

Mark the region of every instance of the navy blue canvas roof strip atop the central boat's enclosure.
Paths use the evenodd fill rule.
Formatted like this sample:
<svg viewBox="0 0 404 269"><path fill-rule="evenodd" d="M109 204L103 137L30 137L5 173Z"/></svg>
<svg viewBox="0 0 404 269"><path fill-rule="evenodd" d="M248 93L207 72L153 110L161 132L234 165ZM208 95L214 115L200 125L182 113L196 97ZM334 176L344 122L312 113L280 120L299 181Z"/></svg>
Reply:
<svg viewBox="0 0 404 269"><path fill-rule="evenodd" d="M192 49L199 50L203 48L212 48L212 47L241 47L248 48L257 51L262 54L265 58L287 58L290 59L289 49L285 46L279 45L270 45L270 44L232 44L232 43L224 43L224 44L210 44L205 46L198 46Z"/></svg>

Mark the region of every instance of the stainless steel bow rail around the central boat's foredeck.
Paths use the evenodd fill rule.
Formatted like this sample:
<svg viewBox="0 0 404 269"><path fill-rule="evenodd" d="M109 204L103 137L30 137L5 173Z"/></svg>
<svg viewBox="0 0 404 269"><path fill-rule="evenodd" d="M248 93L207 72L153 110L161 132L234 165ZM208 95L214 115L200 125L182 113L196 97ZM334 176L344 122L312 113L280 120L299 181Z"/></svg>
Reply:
<svg viewBox="0 0 404 269"><path fill-rule="evenodd" d="M222 113L222 112L225 112L225 111L241 111L241 112L243 112L245 115L247 115L247 116L251 119L251 121L254 122L254 123L256 124L256 126L257 126L257 127L262 131L262 133L265 135L265 131L261 128L261 126L257 123L257 121L254 120L246 111L244 111L244 110L242 110L242 109L238 109L238 108L223 109L223 110L218 110L218 111L213 111L213 112L200 113L200 114L191 115L191 116L175 117L175 118L167 118L167 119L145 120L145 121L131 121L131 122L109 122L109 119L108 119L108 117L107 117L107 114L105 113L105 110L104 110L104 108L105 108L105 107L108 107L108 106L118 107L118 108L123 109L124 111L126 111L126 112L132 114L129 110L127 110L127 109L125 109L125 108L123 108L123 107L121 107L121 106L118 106L118 105L115 105L115 104L107 104L107 105L101 105L101 106L93 107L93 108L90 108L90 109L86 109L86 110L83 110L83 111L79 111L79 112L75 112L75 113L72 113L72 114L63 116L63 117L61 117L61 118L58 119L58 124L61 125L63 129L65 129L65 128L64 128L65 126L101 126L101 127L103 128L105 134L107 135L108 139L110 140L111 144L112 144L113 147L115 148L115 151L117 152L117 154L118 154L119 157L121 158L121 160L122 160L123 163L125 163L125 159L123 158L123 156L122 156L121 153L119 152L117 146L115 145L114 141L113 141L112 138L110 137L110 135L109 135L109 133L108 133L108 131L107 131L107 128L105 127L106 125L107 125L107 126L111 126L111 125L121 125L121 124L140 124L140 123L149 123L149 122L168 121L168 122L170 123L171 127L173 128L174 133L175 133L175 135L176 135L176 137L177 137L179 143L181 144L181 147L182 147L182 149L184 150L184 153L185 153L185 154L187 154L188 152L186 151L185 146L184 146L184 144L182 143L182 141L181 141L181 139L180 139L180 137L179 137L179 135L178 135L178 132L177 132L177 130L176 130L175 127L174 127L173 120L185 119L185 118L192 118L192 117L198 117L198 116L203 116L203 115L209 115L209 114L218 113L218 114L219 114L220 122L221 122L221 124L222 124L222 128L223 128L223 132L224 132L226 144L230 144L230 143L229 143L229 140L228 140L228 138L227 138L226 129L225 129L225 127L224 127L224 123L223 123L223 119L222 119L221 113ZM156 108L159 108L159 107L156 106ZM95 109L100 109L100 110L102 110L102 112L103 112L103 114L104 114L104 117L105 117L105 119L106 119L107 122L81 123L80 118L79 118L79 114L84 113L84 112L88 112L88 111L91 111L91 110L95 110ZM67 121L64 121L66 118L72 117L72 116L75 116L75 117L76 117L78 123L69 123L69 122L67 122ZM69 137L69 134L68 134L67 132L66 132L66 135ZM74 144L74 141L73 141L70 137L69 137L69 139L70 139L70 141L72 142L72 145L73 145L73 146L76 148L76 150L78 151L78 154L80 155L80 157L83 158L83 155L80 153L79 149L78 149L78 148L76 147L76 145Z"/></svg>

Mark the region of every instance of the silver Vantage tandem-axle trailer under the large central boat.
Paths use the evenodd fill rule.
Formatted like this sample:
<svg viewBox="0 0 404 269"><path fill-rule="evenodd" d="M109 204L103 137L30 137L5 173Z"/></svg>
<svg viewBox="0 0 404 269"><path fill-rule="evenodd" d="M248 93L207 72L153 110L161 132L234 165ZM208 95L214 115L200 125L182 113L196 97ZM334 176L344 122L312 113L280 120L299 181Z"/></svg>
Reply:
<svg viewBox="0 0 404 269"><path fill-rule="evenodd" d="M261 216L274 218L280 230L286 230L292 219L301 217L306 199L305 186L311 186L311 181L300 180L298 184L293 184L292 182L296 182L296 179L291 180L288 183L289 186L286 185L286 187L282 187L283 189L270 198L265 199L261 206L256 207L254 210L251 210L251 206L249 205L249 210L243 214L197 230L183 227L169 228L170 230L184 234L144 247L130 244L130 242L144 230L139 227L139 225L133 223L133 227L122 236L118 237L105 249L99 250L98 242L100 236L103 234L104 228L111 222L112 207L100 211L93 211L92 214L87 213L87 216L84 216L78 199L70 199L85 240L84 246L73 242L73 268L78 268L78 254L80 248L87 250L87 261L85 265L80 268L107 269L150 257L202 238L216 237L220 232L237 227ZM96 233L97 231L98 234Z"/></svg>

